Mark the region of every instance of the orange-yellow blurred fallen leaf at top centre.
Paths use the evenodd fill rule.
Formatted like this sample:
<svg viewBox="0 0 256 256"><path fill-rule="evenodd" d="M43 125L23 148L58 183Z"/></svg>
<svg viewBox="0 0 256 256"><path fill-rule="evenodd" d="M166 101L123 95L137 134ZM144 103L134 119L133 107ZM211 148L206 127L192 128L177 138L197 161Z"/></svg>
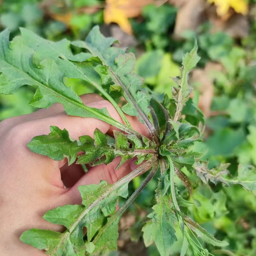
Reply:
<svg viewBox="0 0 256 256"><path fill-rule="evenodd" d="M153 2L154 0L106 0L104 22L116 23L124 32L132 34L129 18L139 16L142 8Z"/></svg>

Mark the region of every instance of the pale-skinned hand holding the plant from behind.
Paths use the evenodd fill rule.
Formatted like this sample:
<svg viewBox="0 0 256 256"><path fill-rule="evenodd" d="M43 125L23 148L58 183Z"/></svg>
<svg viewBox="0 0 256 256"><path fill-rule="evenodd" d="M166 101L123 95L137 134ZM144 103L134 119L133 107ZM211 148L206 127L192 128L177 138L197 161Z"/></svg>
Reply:
<svg viewBox="0 0 256 256"><path fill-rule="evenodd" d="M107 108L115 120L121 117L110 102L97 94L81 96L84 104ZM136 117L127 116L133 129L148 136L146 127ZM118 170L120 158L108 165L90 167L84 173L80 165L54 161L29 151L27 143L37 135L49 134L50 126L66 128L73 139L89 135L95 128L112 134L115 127L93 118L68 116L61 104L40 109L32 114L4 120L0 123L0 255L43 256L43 251L23 244L19 237L27 229L40 228L63 231L63 227L42 218L46 211L67 204L80 204L80 185L98 184L100 180L115 183L137 166L127 161Z"/></svg>

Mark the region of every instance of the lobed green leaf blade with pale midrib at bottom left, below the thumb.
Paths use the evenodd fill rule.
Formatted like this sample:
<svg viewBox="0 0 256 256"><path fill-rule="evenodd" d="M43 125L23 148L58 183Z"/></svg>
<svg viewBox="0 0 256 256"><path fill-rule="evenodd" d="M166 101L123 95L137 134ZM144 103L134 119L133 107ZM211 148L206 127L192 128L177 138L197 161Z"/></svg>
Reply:
<svg viewBox="0 0 256 256"><path fill-rule="evenodd" d="M128 196L128 182L124 179L120 181L113 185L101 181L98 185L80 186L83 205L61 206L48 211L44 218L51 223L67 227L64 233L30 229L25 231L20 239L38 249L46 250L46 253L52 256L63 253L85 255L86 251L92 252L93 245L83 240L83 227L87 227L90 241L103 226L102 214L114 214L118 196ZM110 244L106 244L105 248L112 249Z"/></svg>

